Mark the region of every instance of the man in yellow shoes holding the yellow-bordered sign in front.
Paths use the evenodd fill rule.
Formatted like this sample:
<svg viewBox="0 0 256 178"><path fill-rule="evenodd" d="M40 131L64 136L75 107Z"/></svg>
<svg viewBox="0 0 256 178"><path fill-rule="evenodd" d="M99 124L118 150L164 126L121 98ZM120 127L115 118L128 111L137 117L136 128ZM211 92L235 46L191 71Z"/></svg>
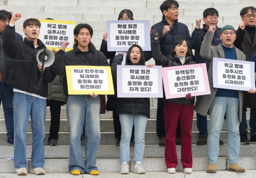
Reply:
<svg viewBox="0 0 256 178"><path fill-rule="evenodd" d="M93 35L92 27L88 24L79 24L74 29L75 44L73 50L64 52L69 42L63 41L62 47L55 54L55 63L51 70L56 74L64 74L65 66L108 66L104 54L95 49L90 43ZM66 113L70 134L69 164L71 174L99 174L96 164L96 153L100 144L100 96L68 95L66 76L63 84L64 94L68 96ZM81 133L84 129L85 156L82 156Z"/></svg>

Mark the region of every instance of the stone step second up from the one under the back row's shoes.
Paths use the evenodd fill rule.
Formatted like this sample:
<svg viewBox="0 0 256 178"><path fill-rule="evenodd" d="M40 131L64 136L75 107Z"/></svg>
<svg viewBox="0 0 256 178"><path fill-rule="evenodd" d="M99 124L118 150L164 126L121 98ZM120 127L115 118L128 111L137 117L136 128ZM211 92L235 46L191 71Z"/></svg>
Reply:
<svg viewBox="0 0 256 178"><path fill-rule="evenodd" d="M250 119L247 119L246 121L247 121L247 125L248 125L247 130L250 130L250 126L249 126ZM210 122L210 119L207 119L208 130L209 130L209 122ZM45 131L48 132L49 130L50 130L50 119L46 119ZM114 132L113 119L100 119L100 131L101 132ZM146 131L147 132L156 131L156 119L148 119ZM196 126L196 119L193 119L192 131L198 131L197 126ZM224 120L224 122L223 122L222 131L226 131L226 120ZM0 132L6 132L4 119L0 119ZM28 132L31 132L30 120L28 123ZM67 119L60 119L60 132L69 132Z"/></svg>

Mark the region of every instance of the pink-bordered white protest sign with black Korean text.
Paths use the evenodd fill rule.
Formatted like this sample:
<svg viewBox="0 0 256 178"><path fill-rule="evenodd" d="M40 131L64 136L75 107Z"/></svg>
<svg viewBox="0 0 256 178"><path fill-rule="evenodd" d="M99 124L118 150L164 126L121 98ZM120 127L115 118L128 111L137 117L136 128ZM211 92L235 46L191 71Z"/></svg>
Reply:
<svg viewBox="0 0 256 178"><path fill-rule="evenodd" d="M164 67L162 71L166 99L211 94L205 63Z"/></svg>

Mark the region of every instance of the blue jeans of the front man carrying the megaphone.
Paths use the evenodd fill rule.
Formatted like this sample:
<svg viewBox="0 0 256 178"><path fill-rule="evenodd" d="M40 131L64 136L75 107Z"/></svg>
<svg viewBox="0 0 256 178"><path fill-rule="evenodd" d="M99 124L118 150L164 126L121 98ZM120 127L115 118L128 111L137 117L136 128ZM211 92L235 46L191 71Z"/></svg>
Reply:
<svg viewBox="0 0 256 178"><path fill-rule="evenodd" d="M44 166L44 125L46 118L46 100L24 93L14 92L14 167L26 168L26 135L31 115L32 155L31 168Z"/></svg>

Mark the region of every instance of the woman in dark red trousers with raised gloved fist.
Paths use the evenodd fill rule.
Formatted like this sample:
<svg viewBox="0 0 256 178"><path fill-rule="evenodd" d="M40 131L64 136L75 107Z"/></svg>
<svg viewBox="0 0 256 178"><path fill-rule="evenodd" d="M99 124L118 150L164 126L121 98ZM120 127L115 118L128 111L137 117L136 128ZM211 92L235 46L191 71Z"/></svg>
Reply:
<svg viewBox="0 0 256 178"><path fill-rule="evenodd" d="M186 38L177 38L172 45L172 53L169 58L161 53L160 41L156 30L152 29L152 56L156 65L162 67L172 67L181 65L196 64L193 53L188 46ZM176 76L174 76L176 77ZM184 173L192 173L192 121L194 115L194 97L187 94L186 98L166 99L164 96L164 125L166 129L165 138L165 162L168 173L175 173L178 165L176 152L176 128L180 118L180 131L182 137L181 162Z"/></svg>

